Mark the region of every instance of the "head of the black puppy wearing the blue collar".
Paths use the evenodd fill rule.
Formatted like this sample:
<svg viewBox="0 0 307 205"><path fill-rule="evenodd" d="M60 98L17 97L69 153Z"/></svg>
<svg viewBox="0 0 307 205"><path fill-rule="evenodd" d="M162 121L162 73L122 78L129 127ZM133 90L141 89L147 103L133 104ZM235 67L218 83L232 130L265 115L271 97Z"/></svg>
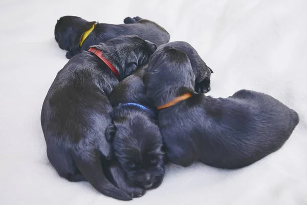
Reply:
<svg viewBox="0 0 307 205"><path fill-rule="evenodd" d="M112 143L126 177L143 189L157 188L165 173L158 126L140 113L124 111L113 120L114 124L106 130L106 138Z"/></svg>

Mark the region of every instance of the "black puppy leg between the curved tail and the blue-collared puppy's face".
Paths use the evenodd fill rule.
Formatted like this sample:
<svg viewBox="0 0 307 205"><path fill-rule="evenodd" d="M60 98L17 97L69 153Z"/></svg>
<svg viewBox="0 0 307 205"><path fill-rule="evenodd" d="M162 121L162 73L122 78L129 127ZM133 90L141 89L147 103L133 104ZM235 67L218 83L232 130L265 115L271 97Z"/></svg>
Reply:
<svg viewBox="0 0 307 205"><path fill-rule="evenodd" d="M113 162L105 172L107 178L120 190L126 192L131 198L141 197L145 194L145 190L136 187L128 181L124 172L117 162Z"/></svg>

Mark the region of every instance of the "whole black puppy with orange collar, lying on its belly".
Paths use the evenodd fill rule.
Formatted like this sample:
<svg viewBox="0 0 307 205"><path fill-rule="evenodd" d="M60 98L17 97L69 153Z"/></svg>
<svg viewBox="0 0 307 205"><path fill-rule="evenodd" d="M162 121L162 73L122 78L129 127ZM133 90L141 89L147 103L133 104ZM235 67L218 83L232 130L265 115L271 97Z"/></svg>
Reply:
<svg viewBox="0 0 307 205"><path fill-rule="evenodd" d="M165 47L150 58L144 83L159 109L166 157L187 167L195 160L237 169L277 151L299 122L298 114L277 99L239 90L228 98L194 92L188 56Z"/></svg>

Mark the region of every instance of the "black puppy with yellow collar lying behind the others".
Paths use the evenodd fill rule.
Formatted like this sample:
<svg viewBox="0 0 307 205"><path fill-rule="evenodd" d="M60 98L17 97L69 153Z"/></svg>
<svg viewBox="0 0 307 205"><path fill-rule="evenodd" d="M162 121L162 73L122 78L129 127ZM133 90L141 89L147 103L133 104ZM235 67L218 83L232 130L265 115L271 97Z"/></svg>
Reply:
<svg viewBox="0 0 307 205"><path fill-rule="evenodd" d="M88 50L90 46L120 35L136 34L158 47L169 42L169 33L155 22L140 17L127 17L124 23L99 24L77 16L63 16L57 20L54 36L59 47L68 51L66 57L69 59L82 50Z"/></svg>

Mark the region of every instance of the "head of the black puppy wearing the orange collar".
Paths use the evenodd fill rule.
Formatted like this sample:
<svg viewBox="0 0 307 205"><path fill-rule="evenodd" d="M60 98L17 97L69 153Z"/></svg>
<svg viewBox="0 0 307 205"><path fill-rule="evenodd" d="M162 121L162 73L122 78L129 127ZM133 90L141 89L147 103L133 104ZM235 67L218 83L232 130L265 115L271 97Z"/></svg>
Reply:
<svg viewBox="0 0 307 205"><path fill-rule="evenodd" d="M151 56L143 77L147 97L162 106L174 97L194 91L195 75L186 53L164 47Z"/></svg>

